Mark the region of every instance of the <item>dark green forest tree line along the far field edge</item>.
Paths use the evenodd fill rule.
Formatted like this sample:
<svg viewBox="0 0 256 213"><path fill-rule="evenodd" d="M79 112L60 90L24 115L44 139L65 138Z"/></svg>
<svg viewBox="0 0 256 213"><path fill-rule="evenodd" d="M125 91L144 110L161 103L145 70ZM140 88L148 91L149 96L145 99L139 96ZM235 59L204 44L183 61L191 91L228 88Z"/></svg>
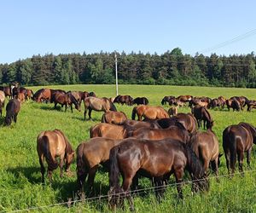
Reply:
<svg viewBox="0 0 256 213"><path fill-rule="evenodd" d="M182 53L179 48L162 55L117 53L119 83L256 87L256 57L247 55ZM0 64L0 84L21 85L115 83L114 52L33 55Z"/></svg>

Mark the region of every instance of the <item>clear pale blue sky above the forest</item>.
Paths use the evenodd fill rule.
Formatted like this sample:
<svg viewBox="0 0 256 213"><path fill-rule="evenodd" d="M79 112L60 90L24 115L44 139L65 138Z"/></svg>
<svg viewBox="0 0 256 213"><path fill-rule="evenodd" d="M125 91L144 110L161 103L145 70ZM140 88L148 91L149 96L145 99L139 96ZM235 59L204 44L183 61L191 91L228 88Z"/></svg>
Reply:
<svg viewBox="0 0 256 213"><path fill-rule="evenodd" d="M141 51L246 55L256 1L2 0L0 63L32 55Z"/></svg>

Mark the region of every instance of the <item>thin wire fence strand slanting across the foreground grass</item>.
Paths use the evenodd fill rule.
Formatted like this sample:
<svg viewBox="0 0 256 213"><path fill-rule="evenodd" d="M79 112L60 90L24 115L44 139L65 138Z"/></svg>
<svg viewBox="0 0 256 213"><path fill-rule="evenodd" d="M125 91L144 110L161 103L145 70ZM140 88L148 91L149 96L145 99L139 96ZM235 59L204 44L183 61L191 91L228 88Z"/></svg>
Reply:
<svg viewBox="0 0 256 213"><path fill-rule="evenodd" d="M233 176L241 176L244 174L248 174L248 173L256 173L256 170L246 170L243 172L236 172L234 174L227 174L227 175L222 175L222 176L218 176L218 181L222 178L230 178ZM217 176L210 176L208 177L208 180L210 181L211 179L217 179ZM169 183L169 184L164 184L161 186L154 186L154 187L145 187L145 188L141 188L141 189L136 189L136 190L131 190L131 196L132 197L137 197L139 195L142 194L146 194L146 193L150 193L150 192L159 192L162 191L163 189L166 189L166 187L177 187L177 185L187 185L187 184L192 184L193 182L197 182L197 181L203 181L204 179L197 179L197 180L187 180L187 181L182 181L179 183ZM125 196L125 193L114 193L115 196ZM79 203L91 203L91 202L102 202L102 201L108 201L109 195L100 195L100 196L96 196L96 197L91 197L91 198L84 198L84 199L73 199L73 200L68 200L67 202L60 202L60 203L56 203L56 204L49 204L49 205L43 205L43 206L34 206L34 207L29 207L26 209L21 209L21 210L12 210L12 211L8 211L8 212L24 212L24 211L31 211L31 210L44 210L44 209L49 209L52 207L56 207L56 206L67 206L67 207L71 207L72 205L75 204L79 204ZM7 210L2 210L0 212L7 212Z"/></svg>

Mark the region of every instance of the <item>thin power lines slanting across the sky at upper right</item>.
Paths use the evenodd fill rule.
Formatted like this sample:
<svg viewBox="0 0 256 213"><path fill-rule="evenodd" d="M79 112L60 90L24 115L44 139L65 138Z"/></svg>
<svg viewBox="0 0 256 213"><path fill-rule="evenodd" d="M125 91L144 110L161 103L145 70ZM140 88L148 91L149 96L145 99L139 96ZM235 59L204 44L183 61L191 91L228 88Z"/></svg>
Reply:
<svg viewBox="0 0 256 213"><path fill-rule="evenodd" d="M246 33L242 34L242 35L239 35L237 37L233 37L230 40L227 40L227 41L225 41L223 43L218 43L217 45L214 45L214 46L212 46L210 48L203 49L199 53L207 53L207 52L210 52L210 51L215 50L215 49L220 49L220 48L222 48L224 46L230 45L231 43L236 43L236 42L241 41L241 40L243 40L243 39L245 39L247 37L251 37L251 36L253 36L255 34L256 34L256 29L253 29L253 30L251 30L249 32L246 32Z"/></svg>

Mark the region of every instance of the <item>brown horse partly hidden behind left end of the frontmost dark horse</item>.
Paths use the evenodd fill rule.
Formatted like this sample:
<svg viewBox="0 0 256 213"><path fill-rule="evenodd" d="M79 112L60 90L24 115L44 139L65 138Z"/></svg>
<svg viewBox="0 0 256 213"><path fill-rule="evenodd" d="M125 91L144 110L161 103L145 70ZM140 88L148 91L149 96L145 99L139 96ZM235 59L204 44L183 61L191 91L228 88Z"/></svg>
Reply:
<svg viewBox="0 0 256 213"><path fill-rule="evenodd" d="M114 140L105 137L91 138L81 142L77 147L77 177L80 193L84 193L84 181L87 179L89 192L93 188L96 171L100 164L109 169L110 149L118 145L121 140Z"/></svg>

